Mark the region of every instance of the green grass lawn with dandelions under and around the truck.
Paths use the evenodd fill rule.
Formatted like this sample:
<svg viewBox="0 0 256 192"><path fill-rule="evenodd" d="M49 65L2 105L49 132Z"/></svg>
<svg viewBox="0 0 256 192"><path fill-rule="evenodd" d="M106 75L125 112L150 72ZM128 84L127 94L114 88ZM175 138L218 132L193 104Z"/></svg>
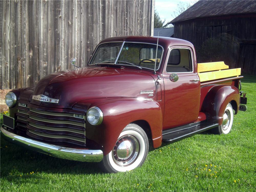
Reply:
<svg viewBox="0 0 256 192"><path fill-rule="evenodd" d="M197 134L152 150L142 167L105 174L96 163L47 156L1 138L1 191L255 191L256 77L246 76L247 111L228 135ZM2 123L2 115L1 115Z"/></svg>

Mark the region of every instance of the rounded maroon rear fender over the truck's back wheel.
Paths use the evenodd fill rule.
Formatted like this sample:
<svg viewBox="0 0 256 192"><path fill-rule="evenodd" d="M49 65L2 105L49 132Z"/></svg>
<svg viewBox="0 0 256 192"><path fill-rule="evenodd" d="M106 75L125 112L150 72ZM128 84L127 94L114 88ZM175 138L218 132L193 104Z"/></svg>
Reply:
<svg viewBox="0 0 256 192"><path fill-rule="evenodd" d="M203 111L208 114L207 119L221 125L225 108L231 101L236 102L236 105L232 106L237 112L240 103L240 93L236 87L227 85L216 85L212 87L207 93L203 103Z"/></svg>

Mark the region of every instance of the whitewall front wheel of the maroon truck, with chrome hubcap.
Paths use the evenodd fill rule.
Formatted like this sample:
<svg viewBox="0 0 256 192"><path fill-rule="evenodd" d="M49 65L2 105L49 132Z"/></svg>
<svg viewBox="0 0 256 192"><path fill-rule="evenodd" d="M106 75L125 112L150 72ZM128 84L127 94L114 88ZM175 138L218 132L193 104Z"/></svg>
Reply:
<svg viewBox="0 0 256 192"><path fill-rule="evenodd" d="M116 141L113 150L103 157L105 172L125 172L141 166L148 154L148 138L137 124L127 125Z"/></svg>

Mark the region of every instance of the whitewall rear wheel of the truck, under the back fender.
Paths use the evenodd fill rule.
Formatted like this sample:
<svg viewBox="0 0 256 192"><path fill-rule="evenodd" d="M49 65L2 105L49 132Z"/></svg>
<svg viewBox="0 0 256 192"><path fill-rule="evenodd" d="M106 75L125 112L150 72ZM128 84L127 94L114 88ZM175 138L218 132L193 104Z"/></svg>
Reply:
<svg viewBox="0 0 256 192"><path fill-rule="evenodd" d="M233 108L230 103L226 106L226 109L223 114L223 122L218 127L212 129L213 133L215 134L228 134L231 130L233 124Z"/></svg>

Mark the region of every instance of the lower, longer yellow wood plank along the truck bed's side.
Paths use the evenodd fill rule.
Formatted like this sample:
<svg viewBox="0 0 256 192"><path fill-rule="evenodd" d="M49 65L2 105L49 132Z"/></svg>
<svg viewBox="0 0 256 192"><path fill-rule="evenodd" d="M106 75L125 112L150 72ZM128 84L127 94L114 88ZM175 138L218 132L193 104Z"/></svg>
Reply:
<svg viewBox="0 0 256 192"><path fill-rule="evenodd" d="M241 68L237 69L227 69L221 71L211 71L205 73L199 73L200 82L211 81L215 79L222 79L226 77L238 76L241 74Z"/></svg>

